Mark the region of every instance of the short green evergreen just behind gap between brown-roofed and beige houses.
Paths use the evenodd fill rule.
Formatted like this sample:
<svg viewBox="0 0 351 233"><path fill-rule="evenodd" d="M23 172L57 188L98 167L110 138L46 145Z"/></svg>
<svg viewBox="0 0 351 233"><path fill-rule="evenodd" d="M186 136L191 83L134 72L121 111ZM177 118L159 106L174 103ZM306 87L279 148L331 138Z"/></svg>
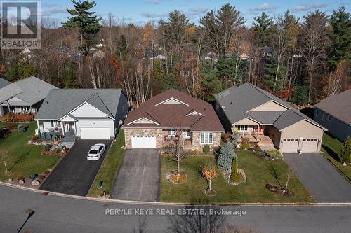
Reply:
<svg viewBox="0 0 351 233"><path fill-rule="evenodd" d="M213 94L222 90L222 84L210 61L201 62L199 76L202 87L204 88L204 99L206 101L213 101Z"/></svg>

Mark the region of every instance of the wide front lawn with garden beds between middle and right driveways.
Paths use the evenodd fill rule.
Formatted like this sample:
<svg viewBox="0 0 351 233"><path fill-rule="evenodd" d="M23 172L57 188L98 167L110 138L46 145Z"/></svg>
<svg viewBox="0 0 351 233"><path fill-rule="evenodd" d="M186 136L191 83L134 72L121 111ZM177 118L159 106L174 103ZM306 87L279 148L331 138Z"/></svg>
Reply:
<svg viewBox="0 0 351 233"><path fill-rule="evenodd" d="M276 195L265 188L266 183L278 185L268 169L269 164L274 164L278 171L282 172L282 181L286 181L287 164L284 161L267 161L253 155L250 151L237 152L239 168L244 169L247 182L240 185L229 185L221 174L213 180L213 190L216 190L215 197L207 197L203 190L207 187L206 180L201 178L199 164L215 162L212 156L191 156L181 164L187 174L187 182L181 185L171 185L166 181L167 171L176 169L176 163L161 157L161 202L313 202L307 190L298 181L296 176L291 178L289 189L295 192L291 198Z"/></svg>

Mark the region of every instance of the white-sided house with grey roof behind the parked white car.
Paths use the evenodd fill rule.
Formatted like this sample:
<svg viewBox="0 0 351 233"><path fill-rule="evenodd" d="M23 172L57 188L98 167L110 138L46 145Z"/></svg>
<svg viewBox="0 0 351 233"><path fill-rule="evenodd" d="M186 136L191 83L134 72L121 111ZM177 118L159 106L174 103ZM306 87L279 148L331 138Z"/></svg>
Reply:
<svg viewBox="0 0 351 233"><path fill-rule="evenodd" d="M34 120L41 134L56 133L63 141L113 139L128 113L121 89L51 90Z"/></svg>

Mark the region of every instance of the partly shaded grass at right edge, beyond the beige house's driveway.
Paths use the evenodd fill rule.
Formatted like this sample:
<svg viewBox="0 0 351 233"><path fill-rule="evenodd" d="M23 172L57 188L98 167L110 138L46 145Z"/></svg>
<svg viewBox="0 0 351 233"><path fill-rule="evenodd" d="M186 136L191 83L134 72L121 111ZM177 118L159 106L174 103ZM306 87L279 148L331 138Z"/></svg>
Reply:
<svg viewBox="0 0 351 233"><path fill-rule="evenodd" d="M327 160L329 160L335 167L338 169L340 174L346 176L348 181L351 181L351 167L344 167L338 158L338 154L340 153L340 149L342 148L343 143L341 143L338 139L329 136L328 134L323 134L322 140L322 151L324 152L324 156ZM351 183L351 182L350 182Z"/></svg>

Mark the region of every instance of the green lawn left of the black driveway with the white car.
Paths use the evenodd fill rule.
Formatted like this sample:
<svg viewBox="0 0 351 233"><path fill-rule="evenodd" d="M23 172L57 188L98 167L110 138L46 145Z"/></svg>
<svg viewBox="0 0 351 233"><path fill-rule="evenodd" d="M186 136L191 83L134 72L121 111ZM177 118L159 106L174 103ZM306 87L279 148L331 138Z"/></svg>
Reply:
<svg viewBox="0 0 351 233"><path fill-rule="evenodd" d="M4 126L2 124L1 126ZM0 164L0 181L18 176L29 177L30 174L40 174L46 169L52 168L60 160L59 155L41 155L44 146L28 145L27 142L34 134L36 123L25 124L26 132L19 133L16 129L10 136L0 139L0 150L8 150L6 173L4 164Z"/></svg>

